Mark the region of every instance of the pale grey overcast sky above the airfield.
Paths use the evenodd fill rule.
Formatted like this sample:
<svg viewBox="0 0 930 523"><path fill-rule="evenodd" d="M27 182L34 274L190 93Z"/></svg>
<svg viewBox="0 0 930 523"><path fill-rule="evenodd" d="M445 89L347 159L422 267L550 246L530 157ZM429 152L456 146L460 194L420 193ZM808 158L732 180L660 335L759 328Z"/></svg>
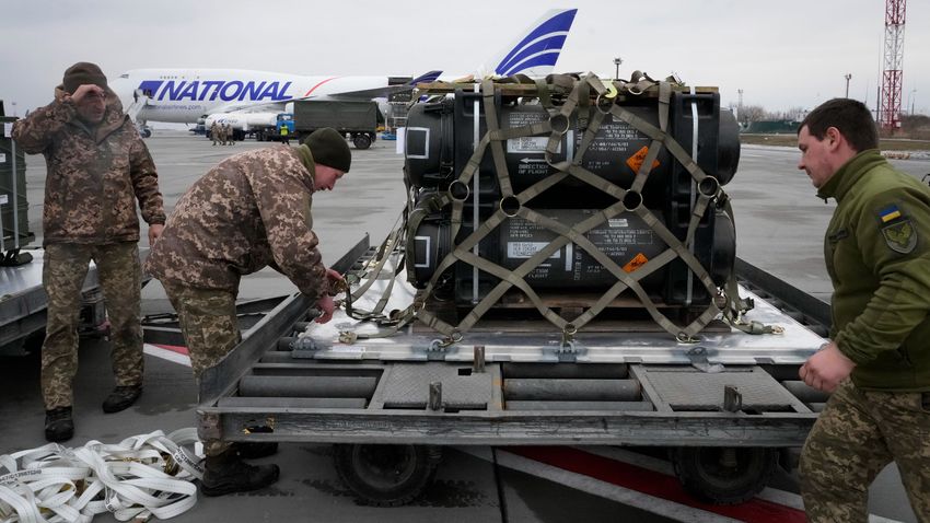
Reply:
<svg viewBox="0 0 930 523"><path fill-rule="evenodd" d="M109 77L136 68L295 74L474 72L546 9L578 8L558 71L675 72L717 85L724 105L813 108L849 95L875 105L883 0L4 0L0 100L12 114L51 101L75 61ZM910 0L903 105L930 114L930 2Z"/></svg>

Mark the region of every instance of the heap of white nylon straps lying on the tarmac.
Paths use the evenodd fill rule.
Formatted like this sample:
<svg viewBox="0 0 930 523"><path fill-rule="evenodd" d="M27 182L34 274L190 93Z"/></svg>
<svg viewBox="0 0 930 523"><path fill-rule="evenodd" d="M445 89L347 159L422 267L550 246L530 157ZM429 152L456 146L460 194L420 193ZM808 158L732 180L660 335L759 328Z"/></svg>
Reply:
<svg viewBox="0 0 930 523"><path fill-rule="evenodd" d="M174 518L197 502L197 431L133 435L118 444L50 443L0 455L0 523L89 523ZM166 472L167 470L167 472Z"/></svg>

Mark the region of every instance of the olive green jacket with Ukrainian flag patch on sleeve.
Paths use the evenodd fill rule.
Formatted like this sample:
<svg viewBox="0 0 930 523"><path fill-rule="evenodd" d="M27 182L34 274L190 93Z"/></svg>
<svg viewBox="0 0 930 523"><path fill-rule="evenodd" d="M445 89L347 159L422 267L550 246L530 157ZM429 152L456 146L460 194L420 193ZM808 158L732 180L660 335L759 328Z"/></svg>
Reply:
<svg viewBox="0 0 930 523"><path fill-rule="evenodd" d="M835 198L824 255L833 329L860 388L930 391L930 187L877 150L860 152L817 196Z"/></svg>

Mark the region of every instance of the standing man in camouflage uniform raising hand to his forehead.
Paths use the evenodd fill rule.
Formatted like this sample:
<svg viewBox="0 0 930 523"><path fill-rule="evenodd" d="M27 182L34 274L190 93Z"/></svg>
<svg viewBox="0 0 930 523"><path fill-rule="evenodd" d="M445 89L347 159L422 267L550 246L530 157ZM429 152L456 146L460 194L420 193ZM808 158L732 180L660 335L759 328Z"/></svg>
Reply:
<svg viewBox="0 0 930 523"><path fill-rule="evenodd" d="M13 138L27 153L43 153L48 164L43 212L48 322L42 392L45 437L65 441L74 432L78 316L91 260L97 266L109 315L117 385L103 409L123 410L142 392L136 200L152 243L165 222L162 195L146 144L93 63L79 62L65 71L55 101L16 121Z"/></svg>

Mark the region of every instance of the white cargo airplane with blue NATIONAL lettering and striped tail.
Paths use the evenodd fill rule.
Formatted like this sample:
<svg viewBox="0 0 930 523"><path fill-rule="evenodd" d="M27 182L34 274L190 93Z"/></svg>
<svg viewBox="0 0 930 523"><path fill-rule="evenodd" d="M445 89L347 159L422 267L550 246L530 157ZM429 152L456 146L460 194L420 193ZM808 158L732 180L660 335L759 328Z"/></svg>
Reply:
<svg viewBox="0 0 930 523"><path fill-rule="evenodd" d="M543 77L551 72L577 9L554 9L502 50L491 74ZM111 82L127 114L142 136L148 121L197 124L223 116L230 120L264 120L287 112L295 100L372 100L435 81L442 71L429 71L392 84L391 77L318 77L240 69L133 69ZM479 71L484 73L484 71ZM247 125L247 124L246 124Z"/></svg>

